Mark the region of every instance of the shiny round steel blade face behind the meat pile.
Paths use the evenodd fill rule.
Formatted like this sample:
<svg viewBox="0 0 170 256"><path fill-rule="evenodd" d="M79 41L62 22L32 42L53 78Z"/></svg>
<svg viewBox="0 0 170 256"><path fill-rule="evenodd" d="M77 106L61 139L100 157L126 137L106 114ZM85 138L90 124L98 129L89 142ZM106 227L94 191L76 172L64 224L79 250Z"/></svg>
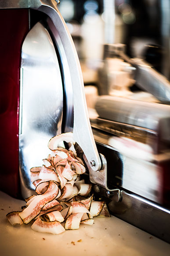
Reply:
<svg viewBox="0 0 170 256"><path fill-rule="evenodd" d="M42 166L49 154L48 141L61 133L63 89L58 59L51 37L41 23L22 45L19 158L22 196L33 188L29 169Z"/></svg>

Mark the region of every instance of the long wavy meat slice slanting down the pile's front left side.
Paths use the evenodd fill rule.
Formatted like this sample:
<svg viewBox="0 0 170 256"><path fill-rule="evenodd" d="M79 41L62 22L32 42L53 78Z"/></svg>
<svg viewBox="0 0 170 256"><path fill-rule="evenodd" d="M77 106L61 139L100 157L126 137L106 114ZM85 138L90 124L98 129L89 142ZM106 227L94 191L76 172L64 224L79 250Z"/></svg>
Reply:
<svg viewBox="0 0 170 256"><path fill-rule="evenodd" d="M37 215L39 215L43 206L54 200L59 193L58 185L54 181L48 181L48 188L42 194L34 197L35 199L26 207L22 212L19 213L19 216L22 218L22 221L27 224Z"/></svg>

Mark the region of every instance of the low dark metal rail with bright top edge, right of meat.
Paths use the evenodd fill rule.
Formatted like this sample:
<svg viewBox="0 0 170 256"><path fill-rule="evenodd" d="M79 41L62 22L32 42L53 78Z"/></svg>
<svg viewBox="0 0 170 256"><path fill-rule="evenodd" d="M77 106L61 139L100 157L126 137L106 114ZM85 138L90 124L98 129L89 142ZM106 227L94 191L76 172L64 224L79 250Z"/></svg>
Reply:
<svg viewBox="0 0 170 256"><path fill-rule="evenodd" d="M121 191L121 198L117 202L115 194L109 202L114 216L170 243L170 210L124 191Z"/></svg>

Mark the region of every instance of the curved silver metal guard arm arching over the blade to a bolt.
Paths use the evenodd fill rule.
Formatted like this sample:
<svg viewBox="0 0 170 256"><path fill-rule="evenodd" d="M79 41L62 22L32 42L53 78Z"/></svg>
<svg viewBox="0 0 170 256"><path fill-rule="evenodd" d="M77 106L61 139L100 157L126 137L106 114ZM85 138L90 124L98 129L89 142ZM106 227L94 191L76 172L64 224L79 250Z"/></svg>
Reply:
<svg viewBox="0 0 170 256"><path fill-rule="evenodd" d="M66 103L67 113L65 114L65 127L68 128L68 130L65 130L65 132L72 130L71 124L73 119L73 139L82 148L87 164L91 161L95 162L94 166L89 165L89 171L100 170L101 159L95 145L90 120L88 117L80 62L69 30L65 25L65 21L60 15L58 8L56 7L56 1L15 0L5 3L4 1L0 1L0 8L32 8L36 9L37 11L44 12L49 17L48 25L51 27L51 31L53 32L53 40L58 48L57 50L61 60L60 64L62 67L62 72L65 70L63 72L65 95L67 95L69 92L69 96L66 97L66 100L69 102ZM68 70L69 72L67 72ZM72 109L74 110L72 111Z"/></svg>

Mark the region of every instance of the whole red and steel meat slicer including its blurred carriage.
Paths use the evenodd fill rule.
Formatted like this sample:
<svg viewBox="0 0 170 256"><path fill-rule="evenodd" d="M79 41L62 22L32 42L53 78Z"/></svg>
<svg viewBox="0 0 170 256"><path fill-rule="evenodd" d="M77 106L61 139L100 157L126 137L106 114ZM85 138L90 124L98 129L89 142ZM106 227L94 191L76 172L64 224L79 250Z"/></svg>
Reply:
<svg viewBox="0 0 170 256"><path fill-rule="evenodd" d="M168 193L169 152L166 147L159 154L154 144L160 138L169 143L169 131L162 129L169 122L169 109L161 107L157 114L152 106L146 118L141 116L141 122L131 123L137 115L130 117L128 110L134 104L128 102L126 109L126 102L100 98L98 117L91 120L92 132L80 63L58 3L0 0L0 189L18 198L32 195L29 169L42 165L52 136L71 131L83 150L95 196L108 200L112 214L170 241L170 210L159 180L164 179ZM115 104L116 119L110 117L112 111L105 112ZM119 115L122 111L123 116ZM121 116L124 119L118 118ZM142 126L142 118L146 121L151 117L155 126ZM161 132L155 129L159 126ZM127 152L129 142L138 147L135 157L133 149ZM137 177L137 169L141 177ZM145 182L149 170L148 183L154 180L150 190Z"/></svg>

